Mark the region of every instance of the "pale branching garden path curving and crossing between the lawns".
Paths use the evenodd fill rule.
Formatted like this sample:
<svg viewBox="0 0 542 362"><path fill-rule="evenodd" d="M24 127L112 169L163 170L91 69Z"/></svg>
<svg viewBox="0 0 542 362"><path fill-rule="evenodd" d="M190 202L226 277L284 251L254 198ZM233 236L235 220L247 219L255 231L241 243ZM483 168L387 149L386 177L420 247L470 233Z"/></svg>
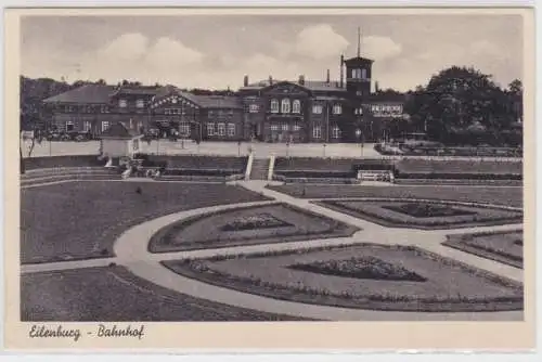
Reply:
<svg viewBox="0 0 542 362"><path fill-rule="evenodd" d="M121 264L133 274L149 280L163 287L189 294L194 297L204 298L221 303L259 310L263 312L289 314L317 320L364 320L364 321L465 321L465 320L521 320L521 311L512 312L472 312L472 313L427 313L427 312L392 312L373 311L348 308L337 308L328 306L306 305L300 302L278 300L261 297L247 293L242 293L229 288L218 287L203 282L179 275L163 267L160 261L175 260L186 257L210 257L216 255L230 255L240 253L258 253L284 249L298 249L302 247L318 247L327 245L347 245L357 243L377 244L402 244L415 245L424 249L437 253L444 257L460 260L467 264L488 270L495 274L522 282L522 270L505 266L489 259L480 258L461 250L442 246L447 234L469 233L481 231L504 231L517 230L521 224L506 224L499 227L463 228L454 230L412 230L399 228L385 228L362 219L358 219L338 211L310 203L310 199L296 198L266 188L267 181L241 181L236 182L248 190L262 193L266 196L275 198L273 202L243 203L223 206L212 206L207 208L185 210L173 215L160 217L141 223L127 230L115 243L114 251L116 257L104 259L90 259L79 261L63 261L40 264L22 266L23 273L44 272L66 269L105 267L111 262ZM281 244L260 244L250 246L223 247L216 249L175 251L164 254L152 254L149 251L149 241L151 236L163 227L181 219L209 211L225 210L240 206L266 205L274 202L287 203L296 207L305 208L317 214L337 219L339 221L353 224L361 229L351 237L311 240L305 242L292 242Z"/></svg>

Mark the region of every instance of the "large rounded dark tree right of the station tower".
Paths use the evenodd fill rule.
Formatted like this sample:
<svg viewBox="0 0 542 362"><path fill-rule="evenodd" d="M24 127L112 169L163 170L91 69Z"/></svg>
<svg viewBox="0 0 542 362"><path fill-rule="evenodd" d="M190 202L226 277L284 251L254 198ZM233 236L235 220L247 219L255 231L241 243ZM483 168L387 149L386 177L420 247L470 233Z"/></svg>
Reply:
<svg viewBox="0 0 542 362"><path fill-rule="evenodd" d="M459 66L441 70L426 87L416 88L409 94L404 109L418 129L441 142L475 122L498 134L514 118L509 96L490 75Z"/></svg>

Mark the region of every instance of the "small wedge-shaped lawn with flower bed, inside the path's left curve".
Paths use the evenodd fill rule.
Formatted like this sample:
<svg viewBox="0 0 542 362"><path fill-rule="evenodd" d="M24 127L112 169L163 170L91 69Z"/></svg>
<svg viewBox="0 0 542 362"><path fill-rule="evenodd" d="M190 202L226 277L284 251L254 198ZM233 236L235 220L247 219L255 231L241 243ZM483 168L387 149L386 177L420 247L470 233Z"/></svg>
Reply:
<svg viewBox="0 0 542 362"><path fill-rule="evenodd" d="M240 207L196 216L163 228L152 253L350 236L359 229L287 204Z"/></svg>

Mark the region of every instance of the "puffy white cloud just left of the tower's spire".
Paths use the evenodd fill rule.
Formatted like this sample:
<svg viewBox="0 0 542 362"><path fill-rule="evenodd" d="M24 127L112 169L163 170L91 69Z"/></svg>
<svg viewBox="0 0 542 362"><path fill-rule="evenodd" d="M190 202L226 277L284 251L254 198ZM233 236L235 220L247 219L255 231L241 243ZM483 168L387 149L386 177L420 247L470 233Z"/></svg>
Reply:
<svg viewBox="0 0 542 362"><path fill-rule="evenodd" d="M328 24L308 26L297 34L294 51L298 55L323 60L337 56L349 46L340 34Z"/></svg>

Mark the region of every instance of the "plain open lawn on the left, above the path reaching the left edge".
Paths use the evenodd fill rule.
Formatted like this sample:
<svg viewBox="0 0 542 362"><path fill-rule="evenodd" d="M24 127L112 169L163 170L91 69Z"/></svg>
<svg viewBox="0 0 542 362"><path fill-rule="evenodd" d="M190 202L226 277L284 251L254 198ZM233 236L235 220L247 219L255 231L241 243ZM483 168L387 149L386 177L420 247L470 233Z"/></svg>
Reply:
<svg viewBox="0 0 542 362"><path fill-rule="evenodd" d="M140 188L141 194L136 190ZM113 256L113 243L141 222L182 210L269 199L225 184L67 182L21 190L23 263Z"/></svg>

